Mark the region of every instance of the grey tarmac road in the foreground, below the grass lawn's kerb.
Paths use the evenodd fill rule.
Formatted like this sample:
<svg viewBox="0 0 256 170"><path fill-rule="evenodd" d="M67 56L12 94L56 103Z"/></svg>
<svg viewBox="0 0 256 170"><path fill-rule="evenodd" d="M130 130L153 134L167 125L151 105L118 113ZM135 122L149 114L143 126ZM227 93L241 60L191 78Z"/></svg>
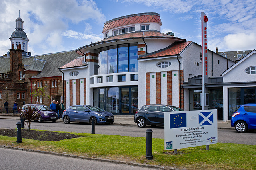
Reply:
<svg viewBox="0 0 256 170"><path fill-rule="evenodd" d="M2 170L146 170L139 166L113 164L35 152L0 148Z"/></svg>

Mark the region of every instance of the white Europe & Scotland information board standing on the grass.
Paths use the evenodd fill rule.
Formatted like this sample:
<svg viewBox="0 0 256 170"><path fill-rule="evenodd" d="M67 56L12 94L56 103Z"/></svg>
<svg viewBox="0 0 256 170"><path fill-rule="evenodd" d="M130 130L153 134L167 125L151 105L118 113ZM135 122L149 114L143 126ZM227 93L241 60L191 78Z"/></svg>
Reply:
<svg viewBox="0 0 256 170"><path fill-rule="evenodd" d="M215 144L218 141L217 110L164 113L164 149Z"/></svg>

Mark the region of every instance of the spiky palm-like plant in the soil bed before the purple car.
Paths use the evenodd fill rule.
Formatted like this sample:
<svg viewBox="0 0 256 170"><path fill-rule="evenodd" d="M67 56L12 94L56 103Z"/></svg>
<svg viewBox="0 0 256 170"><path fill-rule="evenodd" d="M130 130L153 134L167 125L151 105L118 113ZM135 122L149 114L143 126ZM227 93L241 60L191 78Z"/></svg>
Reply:
<svg viewBox="0 0 256 170"><path fill-rule="evenodd" d="M20 112L20 117L24 118L25 126L28 125L28 131L30 131L31 129L31 121L37 119L40 116L40 113L38 113L38 111L34 106L31 105L24 108L24 110L20 108L18 109L18 112Z"/></svg>

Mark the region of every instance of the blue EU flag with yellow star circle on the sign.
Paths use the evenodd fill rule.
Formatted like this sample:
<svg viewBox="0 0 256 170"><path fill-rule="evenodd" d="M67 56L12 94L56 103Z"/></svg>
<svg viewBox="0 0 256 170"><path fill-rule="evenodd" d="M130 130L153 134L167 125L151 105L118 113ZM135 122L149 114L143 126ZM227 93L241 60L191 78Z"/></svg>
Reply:
<svg viewBox="0 0 256 170"><path fill-rule="evenodd" d="M187 127L187 113L170 114L170 129Z"/></svg>

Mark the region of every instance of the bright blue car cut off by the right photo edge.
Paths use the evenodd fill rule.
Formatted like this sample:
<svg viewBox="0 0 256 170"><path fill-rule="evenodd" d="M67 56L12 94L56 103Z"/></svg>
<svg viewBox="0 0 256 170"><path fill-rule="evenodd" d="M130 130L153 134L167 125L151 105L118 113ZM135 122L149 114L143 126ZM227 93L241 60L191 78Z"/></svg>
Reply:
<svg viewBox="0 0 256 170"><path fill-rule="evenodd" d="M240 105L231 117L231 127L239 133L256 129L256 104Z"/></svg>

